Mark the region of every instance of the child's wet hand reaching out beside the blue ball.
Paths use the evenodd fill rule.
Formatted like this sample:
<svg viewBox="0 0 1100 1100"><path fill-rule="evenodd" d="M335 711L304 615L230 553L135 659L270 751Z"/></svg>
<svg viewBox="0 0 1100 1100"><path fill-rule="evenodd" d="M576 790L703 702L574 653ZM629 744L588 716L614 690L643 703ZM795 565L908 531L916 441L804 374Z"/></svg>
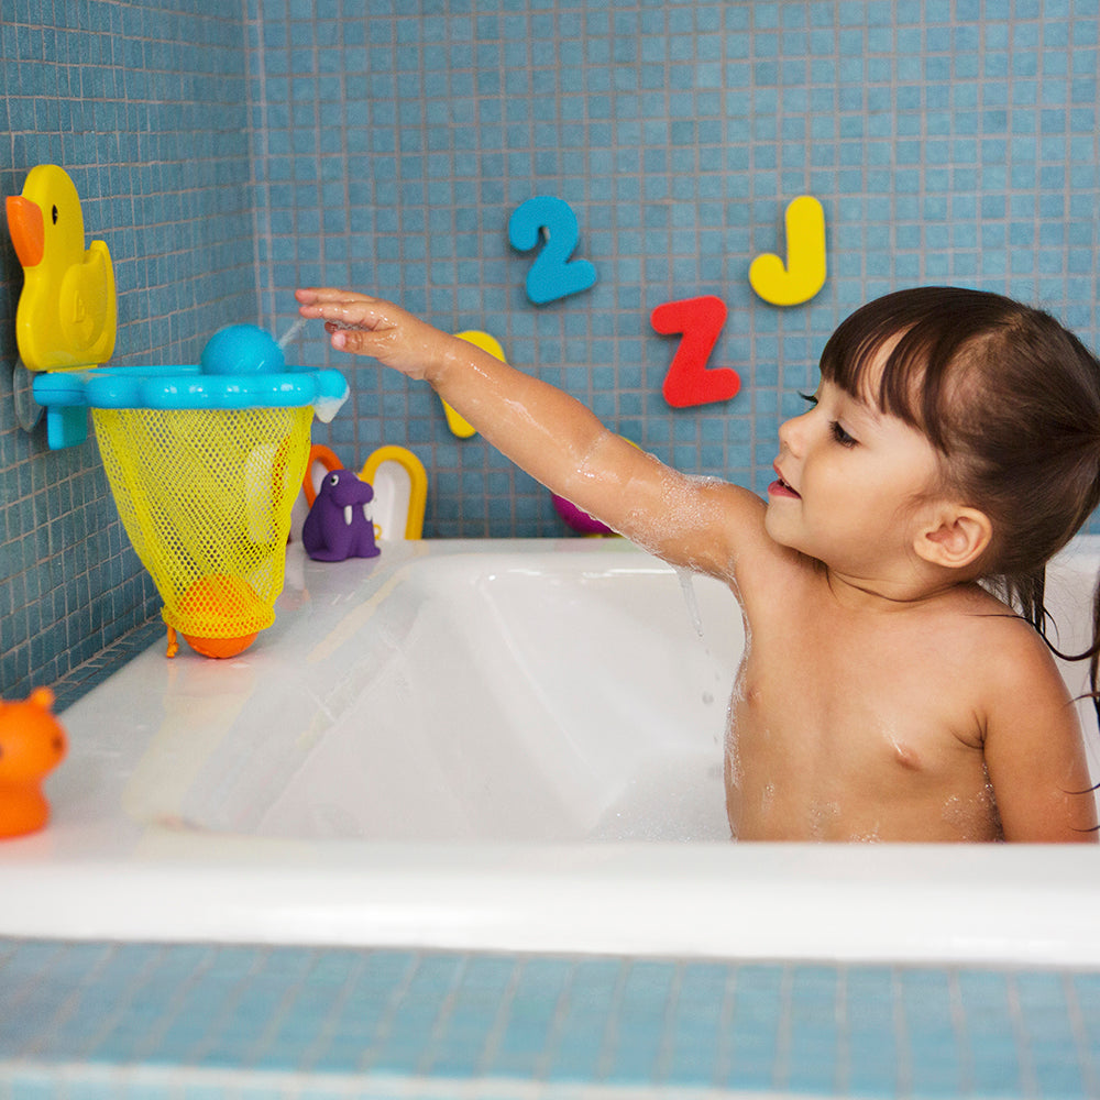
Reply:
<svg viewBox="0 0 1100 1100"><path fill-rule="evenodd" d="M295 292L302 317L320 318L338 351L370 355L410 378L432 380L453 339L399 306L352 290Z"/></svg>

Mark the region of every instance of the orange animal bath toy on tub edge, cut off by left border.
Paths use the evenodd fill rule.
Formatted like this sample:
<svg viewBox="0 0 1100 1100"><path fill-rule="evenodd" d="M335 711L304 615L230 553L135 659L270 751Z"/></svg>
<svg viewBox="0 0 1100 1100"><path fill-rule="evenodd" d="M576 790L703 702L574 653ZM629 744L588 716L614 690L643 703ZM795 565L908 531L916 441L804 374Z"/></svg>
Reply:
<svg viewBox="0 0 1100 1100"><path fill-rule="evenodd" d="M34 833L50 818L42 780L68 747L51 712L53 703L48 688L36 689L20 703L0 700L0 837Z"/></svg>

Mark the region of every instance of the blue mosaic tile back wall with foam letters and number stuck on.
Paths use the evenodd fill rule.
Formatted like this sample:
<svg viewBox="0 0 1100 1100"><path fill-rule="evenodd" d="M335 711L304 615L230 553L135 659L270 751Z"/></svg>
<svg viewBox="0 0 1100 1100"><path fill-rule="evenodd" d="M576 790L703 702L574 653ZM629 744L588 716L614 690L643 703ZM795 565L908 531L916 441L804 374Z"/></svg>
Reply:
<svg viewBox="0 0 1100 1100"><path fill-rule="evenodd" d="M827 336L887 290L1040 304L1098 342L1100 31L1080 0L249 0L265 310L299 284L495 336L681 469L761 490ZM827 282L777 308L747 273L811 194ZM596 284L532 306L508 243L536 195L576 213ZM729 308L712 365L741 392L673 410L654 306ZM326 361L322 337L301 355ZM346 366L344 359L341 365ZM360 361L361 363L364 361ZM563 530L548 494L450 435L424 386L351 366L348 464L410 447L426 532Z"/></svg>

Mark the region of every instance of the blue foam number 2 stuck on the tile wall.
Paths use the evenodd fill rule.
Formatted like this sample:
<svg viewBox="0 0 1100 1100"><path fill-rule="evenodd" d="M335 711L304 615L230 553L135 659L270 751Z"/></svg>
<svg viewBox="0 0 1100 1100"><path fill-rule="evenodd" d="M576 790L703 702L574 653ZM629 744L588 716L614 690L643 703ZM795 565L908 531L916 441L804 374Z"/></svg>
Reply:
<svg viewBox="0 0 1100 1100"><path fill-rule="evenodd" d="M543 249L527 273L527 297L531 301L542 306L587 290L596 282L593 264L571 258L581 239L581 229L573 208L553 195L528 199L516 207L508 219L508 241L514 249L530 252L543 239Z"/></svg>

